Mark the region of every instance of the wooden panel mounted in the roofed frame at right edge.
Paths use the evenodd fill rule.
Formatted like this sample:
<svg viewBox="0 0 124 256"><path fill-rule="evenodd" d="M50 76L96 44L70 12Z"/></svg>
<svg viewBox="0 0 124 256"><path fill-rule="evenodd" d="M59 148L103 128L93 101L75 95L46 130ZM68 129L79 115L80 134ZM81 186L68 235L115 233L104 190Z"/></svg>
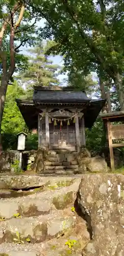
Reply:
<svg viewBox="0 0 124 256"><path fill-rule="evenodd" d="M124 139L124 124L111 125L112 139Z"/></svg>

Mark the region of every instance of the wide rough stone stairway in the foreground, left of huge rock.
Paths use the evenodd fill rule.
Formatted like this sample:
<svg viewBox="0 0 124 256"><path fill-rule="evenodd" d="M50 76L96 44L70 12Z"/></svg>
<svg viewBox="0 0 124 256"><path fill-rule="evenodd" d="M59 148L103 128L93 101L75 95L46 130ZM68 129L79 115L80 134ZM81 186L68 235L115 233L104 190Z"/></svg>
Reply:
<svg viewBox="0 0 124 256"><path fill-rule="evenodd" d="M90 239L73 207L80 182L78 176L1 176L0 256L80 256Z"/></svg>

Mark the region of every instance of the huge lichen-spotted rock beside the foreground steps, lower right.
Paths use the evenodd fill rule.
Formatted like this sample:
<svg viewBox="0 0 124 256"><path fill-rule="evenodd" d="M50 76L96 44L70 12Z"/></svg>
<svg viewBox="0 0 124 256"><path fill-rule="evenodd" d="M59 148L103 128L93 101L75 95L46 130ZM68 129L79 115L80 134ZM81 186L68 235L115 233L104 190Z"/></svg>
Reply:
<svg viewBox="0 0 124 256"><path fill-rule="evenodd" d="M124 255L124 177L116 174L84 175L77 210L84 216L90 242L83 256Z"/></svg>

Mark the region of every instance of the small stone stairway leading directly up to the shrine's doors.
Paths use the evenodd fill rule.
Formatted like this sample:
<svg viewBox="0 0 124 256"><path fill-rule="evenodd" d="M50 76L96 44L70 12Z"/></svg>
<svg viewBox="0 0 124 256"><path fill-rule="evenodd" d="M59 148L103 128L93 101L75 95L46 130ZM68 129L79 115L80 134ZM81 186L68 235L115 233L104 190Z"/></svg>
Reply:
<svg viewBox="0 0 124 256"><path fill-rule="evenodd" d="M44 173L78 174L77 152L67 150L49 151Z"/></svg>

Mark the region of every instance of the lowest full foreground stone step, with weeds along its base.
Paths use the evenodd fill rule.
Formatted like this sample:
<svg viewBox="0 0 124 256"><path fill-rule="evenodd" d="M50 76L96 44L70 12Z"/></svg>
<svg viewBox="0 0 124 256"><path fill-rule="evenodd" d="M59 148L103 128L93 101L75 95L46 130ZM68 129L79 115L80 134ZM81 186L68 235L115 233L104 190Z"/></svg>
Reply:
<svg viewBox="0 0 124 256"><path fill-rule="evenodd" d="M3 221L0 226L0 243L14 242L17 239L27 243L39 243L47 239L53 239L69 229L76 223L75 214L68 209L68 214L63 210L55 211L53 214L39 216L37 218L24 217ZM19 238L18 238L19 233Z"/></svg>

